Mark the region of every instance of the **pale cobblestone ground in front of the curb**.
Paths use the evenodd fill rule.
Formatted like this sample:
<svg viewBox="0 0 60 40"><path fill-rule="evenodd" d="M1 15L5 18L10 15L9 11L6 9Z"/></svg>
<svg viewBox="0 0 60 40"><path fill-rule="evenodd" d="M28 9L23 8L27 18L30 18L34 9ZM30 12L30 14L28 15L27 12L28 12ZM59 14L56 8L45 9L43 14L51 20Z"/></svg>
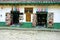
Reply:
<svg viewBox="0 0 60 40"><path fill-rule="evenodd" d="M0 30L0 40L60 40L60 32Z"/></svg>

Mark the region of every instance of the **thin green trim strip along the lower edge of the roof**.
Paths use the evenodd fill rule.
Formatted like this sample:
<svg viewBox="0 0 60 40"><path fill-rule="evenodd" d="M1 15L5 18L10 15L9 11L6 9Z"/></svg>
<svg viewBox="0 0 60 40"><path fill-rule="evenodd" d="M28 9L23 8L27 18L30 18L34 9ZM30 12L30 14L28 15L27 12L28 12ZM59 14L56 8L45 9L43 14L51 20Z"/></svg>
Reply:
<svg viewBox="0 0 60 40"><path fill-rule="evenodd" d="M21 5L45 5L45 4L60 4L60 2L17 2L17 3L11 3L11 2L0 2L0 5L5 5L5 4L9 4L9 5L16 5L16 4L21 4Z"/></svg>

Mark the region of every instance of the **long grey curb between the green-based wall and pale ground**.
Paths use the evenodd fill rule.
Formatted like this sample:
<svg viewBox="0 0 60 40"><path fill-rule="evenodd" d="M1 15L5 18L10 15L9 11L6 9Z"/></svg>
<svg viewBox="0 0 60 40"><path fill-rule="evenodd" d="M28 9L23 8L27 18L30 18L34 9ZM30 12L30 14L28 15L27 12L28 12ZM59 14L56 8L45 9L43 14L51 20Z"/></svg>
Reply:
<svg viewBox="0 0 60 40"><path fill-rule="evenodd" d="M50 31L60 32L60 29L49 29L49 28L16 28L16 27L0 27L0 30L20 30L20 31Z"/></svg>

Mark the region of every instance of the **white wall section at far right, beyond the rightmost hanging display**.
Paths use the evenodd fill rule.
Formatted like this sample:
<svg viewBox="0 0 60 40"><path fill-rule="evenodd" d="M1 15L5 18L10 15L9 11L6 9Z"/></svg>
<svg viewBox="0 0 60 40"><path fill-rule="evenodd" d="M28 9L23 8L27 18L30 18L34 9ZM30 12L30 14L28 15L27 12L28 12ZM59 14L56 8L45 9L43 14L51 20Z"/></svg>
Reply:
<svg viewBox="0 0 60 40"><path fill-rule="evenodd" d="M54 23L60 23L60 9L59 8L50 8L48 12L54 13Z"/></svg>

